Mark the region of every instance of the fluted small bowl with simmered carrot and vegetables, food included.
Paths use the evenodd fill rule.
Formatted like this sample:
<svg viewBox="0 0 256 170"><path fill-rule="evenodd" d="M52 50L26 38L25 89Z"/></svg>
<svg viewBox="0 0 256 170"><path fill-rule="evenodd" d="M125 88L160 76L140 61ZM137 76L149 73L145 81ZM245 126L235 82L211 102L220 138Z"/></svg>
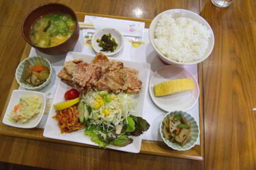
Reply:
<svg viewBox="0 0 256 170"><path fill-rule="evenodd" d="M53 68L46 58L31 56L16 69L16 80L20 86L29 90L39 90L51 81Z"/></svg>

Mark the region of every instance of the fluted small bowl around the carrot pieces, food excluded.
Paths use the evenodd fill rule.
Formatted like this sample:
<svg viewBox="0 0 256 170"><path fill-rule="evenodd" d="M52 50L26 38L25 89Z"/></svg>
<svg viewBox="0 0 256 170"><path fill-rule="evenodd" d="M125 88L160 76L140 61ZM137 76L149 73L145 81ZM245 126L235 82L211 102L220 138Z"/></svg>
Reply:
<svg viewBox="0 0 256 170"><path fill-rule="evenodd" d="M34 65L35 61L40 61L44 66L46 66L49 69L50 75L49 75L48 79L40 86L32 86L30 84L25 84L23 82L20 82L20 78L23 73L23 69L25 67L25 61L27 61L27 60L31 63L31 65ZM17 80L18 84L20 84L20 86L23 86L23 88L26 88L29 90L39 90L39 89L47 86L47 84L49 84L49 82L51 81L52 73L53 73L53 68L51 67L50 62L46 58L42 58L41 56L31 56L29 58L26 58L23 62L20 63L20 65L18 65L15 75L16 75L16 80Z"/></svg>

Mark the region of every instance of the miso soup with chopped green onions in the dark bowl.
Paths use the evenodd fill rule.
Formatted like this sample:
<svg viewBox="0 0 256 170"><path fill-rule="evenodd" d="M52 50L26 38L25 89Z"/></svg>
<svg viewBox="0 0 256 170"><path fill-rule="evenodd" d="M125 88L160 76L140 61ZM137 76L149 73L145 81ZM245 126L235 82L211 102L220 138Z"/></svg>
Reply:
<svg viewBox="0 0 256 170"><path fill-rule="evenodd" d="M63 13L46 14L33 23L29 37L35 46L48 48L66 41L76 29L72 16Z"/></svg>

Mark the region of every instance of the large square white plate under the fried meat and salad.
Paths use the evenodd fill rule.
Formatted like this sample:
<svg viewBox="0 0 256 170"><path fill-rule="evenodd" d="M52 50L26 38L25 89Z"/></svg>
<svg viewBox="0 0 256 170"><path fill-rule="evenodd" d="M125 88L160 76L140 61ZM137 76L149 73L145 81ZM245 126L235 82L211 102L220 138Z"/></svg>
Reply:
<svg viewBox="0 0 256 170"><path fill-rule="evenodd" d="M94 55L82 54L79 52L68 52L66 56L66 61L72 61L75 59L83 58L84 61L89 63L91 60L94 59L94 57L95 57ZM112 58L109 58L109 60L113 61ZM139 92L139 95L137 95L138 103L137 103L136 112L137 112L137 116L143 117L144 103L147 95L148 80L150 77L150 65L144 64L144 63L132 62L132 61L123 61L120 59L115 59L115 60L122 61L125 67L131 67L139 71L139 78L143 84L142 84L141 92ZM55 92L55 97L53 99L53 104L64 101L64 98L63 98L64 93L70 88L72 87L68 86L66 83L62 81L59 81L57 90ZM55 116L55 108L52 106L48 115L46 126L44 128L44 137L60 139L65 141L74 141L78 143L89 144L92 146L98 146L96 143L92 142L88 136L84 134L83 129L73 133L61 134L57 121L53 119L53 116ZM133 142L128 146L125 146L125 147L107 146L106 148L111 148L113 150L122 150L124 152L138 153L141 148L141 136L132 137L132 138L133 138Z"/></svg>

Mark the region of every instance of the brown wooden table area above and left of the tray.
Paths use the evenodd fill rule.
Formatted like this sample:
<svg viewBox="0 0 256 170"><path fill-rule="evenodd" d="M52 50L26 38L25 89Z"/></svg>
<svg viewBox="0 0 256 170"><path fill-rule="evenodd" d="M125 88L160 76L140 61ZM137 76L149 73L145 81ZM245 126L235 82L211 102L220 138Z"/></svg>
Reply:
<svg viewBox="0 0 256 170"><path fill-rule="evenodd" d="M171 8L184 8L192 10L199 14L199 0L182 0L182 1L126 1L126 0L1 0L0 1L0 27L1 27L1 58L0 66L10 65L8 69L0 70L0 89L4 89L1 93L0 100L3 102L0 105L0 111L3 109L3 104L8 96L8 91L14 78L14 72L20 61L20 56L25 48L25 41L21 35L21 25L25 16L38 5L44 3L58 2L64 3L76 12L87 12L94 14L107 14L111 16L126 16L135 18L149 18L164 10ZM141 7L141 9L140 9ZM138 13L139 11L142 14ZM5 17L4 17L5 16ZM149 25L147 25L149 26ZM3 30L3 31L2 31ZM6 76L8 75L8 76ZM3 84L3 82L5 82Z"/></svg>

